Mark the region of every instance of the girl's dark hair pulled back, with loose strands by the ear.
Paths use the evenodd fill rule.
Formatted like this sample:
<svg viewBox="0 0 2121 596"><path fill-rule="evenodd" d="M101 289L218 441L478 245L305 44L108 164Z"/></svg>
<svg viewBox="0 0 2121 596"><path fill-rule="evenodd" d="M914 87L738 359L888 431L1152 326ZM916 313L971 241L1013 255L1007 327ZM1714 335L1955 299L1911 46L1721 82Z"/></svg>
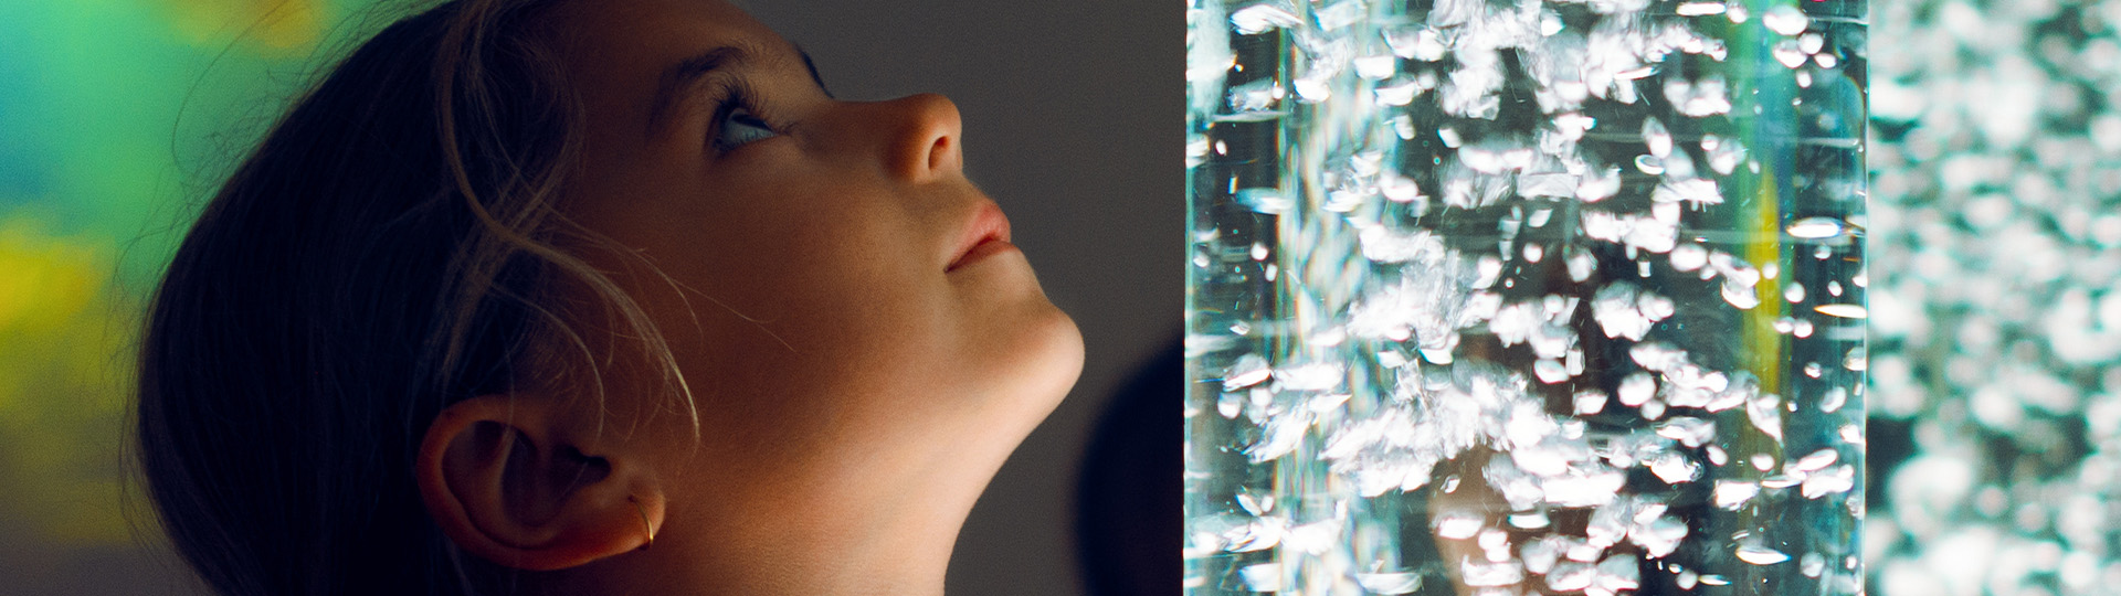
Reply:
<svg viewBox="0 0 2121 596"><path fill-rule="evenodd" d="M178 246L148 303L136 456L214 590L509 590L518 575L456 549L420 501L435 416L568 382L602 399L617 337L689 403L638 303L564 250L613 244L558 210L581 108L541 45L554 2L456 0L384 28ZM581 331L581 303L607 333Z"/></svg>

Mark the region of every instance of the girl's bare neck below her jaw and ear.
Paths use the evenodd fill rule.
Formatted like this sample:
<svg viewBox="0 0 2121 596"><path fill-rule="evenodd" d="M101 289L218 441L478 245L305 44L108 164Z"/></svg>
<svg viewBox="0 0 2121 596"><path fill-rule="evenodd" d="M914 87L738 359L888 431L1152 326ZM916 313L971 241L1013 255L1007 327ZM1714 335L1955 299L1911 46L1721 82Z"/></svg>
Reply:
<svg viewBox="0 0 2121 596"><path fill-rule="evenodd" d="M821 458L838 462L825 473L715 484L670 501L653 549L554 585L560 594L942 596L957 532L1005 456L838 456Z"/></svg>

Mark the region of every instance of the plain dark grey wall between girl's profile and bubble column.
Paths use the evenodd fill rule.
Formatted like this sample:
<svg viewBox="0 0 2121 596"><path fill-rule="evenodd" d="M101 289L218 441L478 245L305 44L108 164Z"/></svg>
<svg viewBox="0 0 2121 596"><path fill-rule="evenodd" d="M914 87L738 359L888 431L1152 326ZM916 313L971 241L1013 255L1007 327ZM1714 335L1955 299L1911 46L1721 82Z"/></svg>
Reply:
<svg viewBox="0 0 2121 596"><path fill-rule="evenodd" d="M744 6L810 51L840 98L935 91L963 112L967 174L1010 214L1046 293L1082 327L1088 358L1075 392L971 511L948 592L1084 594L1073 543L1084 443L1116 386L1179 333L1186 8L1175 0Z"/></svg>

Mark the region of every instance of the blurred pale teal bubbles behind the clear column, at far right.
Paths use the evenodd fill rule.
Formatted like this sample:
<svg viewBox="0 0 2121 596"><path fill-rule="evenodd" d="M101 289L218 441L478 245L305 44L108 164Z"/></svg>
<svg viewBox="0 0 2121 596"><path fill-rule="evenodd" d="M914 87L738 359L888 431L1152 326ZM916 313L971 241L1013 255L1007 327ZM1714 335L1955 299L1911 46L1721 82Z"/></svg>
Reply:
<svg viewBox="0 0 2121 596"><path fill-rule="evenodd" d="M2121 2L1875 42L1873 594L2121 594Z"/></svg>

